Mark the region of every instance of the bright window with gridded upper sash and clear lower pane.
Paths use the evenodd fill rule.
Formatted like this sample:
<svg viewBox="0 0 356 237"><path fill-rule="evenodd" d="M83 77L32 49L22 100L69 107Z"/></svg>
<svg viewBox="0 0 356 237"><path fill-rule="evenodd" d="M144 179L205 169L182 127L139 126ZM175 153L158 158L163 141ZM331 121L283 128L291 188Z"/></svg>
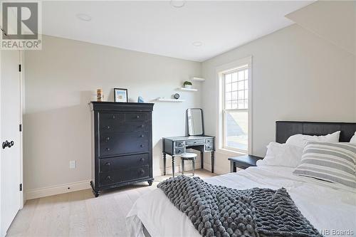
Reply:
<svg viewBox="0 0 356 237"><path fill-rule="evenodd" d="M219 73L221 80L221 142L223 149L236 152L251 151L251 59L235 68Z"/></svg>

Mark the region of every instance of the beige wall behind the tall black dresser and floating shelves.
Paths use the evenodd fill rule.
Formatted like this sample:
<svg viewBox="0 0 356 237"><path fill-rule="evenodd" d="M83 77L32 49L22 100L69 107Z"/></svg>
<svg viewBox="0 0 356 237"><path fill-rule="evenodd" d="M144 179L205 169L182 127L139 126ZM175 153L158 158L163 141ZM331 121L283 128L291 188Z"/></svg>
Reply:
<svg viewBox="0 0 356 237"><path fill-rule="evenodd" d="M103 88L109 101L112 88L127 88L132 102L139 95L150 101L170 98L184 80L201 75L201 63L50 36L43 36L41 51L26 51L25 66L23 167L29 196L66 190L66 185L74 189L88 185L88 102L97 88ZM185 135L187 108L201 107L201 85L194 86L197 93L179 92L185 102L155 102L155 175L162 171L161 137ZM69 169L70 160L76 161L76 169ZM170 159L167 164L170 167Z"/></svg>

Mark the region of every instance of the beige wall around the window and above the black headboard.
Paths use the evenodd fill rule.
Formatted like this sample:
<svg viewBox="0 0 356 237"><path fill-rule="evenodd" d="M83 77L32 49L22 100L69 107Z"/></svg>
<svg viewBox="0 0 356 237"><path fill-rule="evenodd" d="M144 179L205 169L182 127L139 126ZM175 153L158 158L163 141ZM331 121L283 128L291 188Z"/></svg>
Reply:
<svg viewBox="0 0 356 237"><path fill-rule="evenodd" d="M252 56L252 153L264 156L276 120L356 121L355 55L294 24L206 60L202 74L206 134L217 135L216 67ZM216 154L216 172L229 172Z"/></svg>

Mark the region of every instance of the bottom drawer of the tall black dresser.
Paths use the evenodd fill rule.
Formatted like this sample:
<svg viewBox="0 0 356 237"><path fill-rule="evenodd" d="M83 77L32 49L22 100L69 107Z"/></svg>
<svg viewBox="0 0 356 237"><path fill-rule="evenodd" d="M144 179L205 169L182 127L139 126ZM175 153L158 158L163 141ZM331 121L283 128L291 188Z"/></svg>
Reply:
<svg viewBox="0 0 356 237"><path fill-rule="evenodd" d="M149 166L131 167L110 172L100 172L100 185L113 185L122 181L132 181L150 177Z"/></svg>

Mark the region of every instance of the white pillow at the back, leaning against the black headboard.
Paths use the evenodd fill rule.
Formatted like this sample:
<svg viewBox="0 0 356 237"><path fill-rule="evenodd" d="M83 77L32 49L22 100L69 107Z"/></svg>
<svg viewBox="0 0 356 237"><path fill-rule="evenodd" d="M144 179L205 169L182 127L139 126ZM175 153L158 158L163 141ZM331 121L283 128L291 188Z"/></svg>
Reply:
<svg viewBox="0 0 356 237"><path fill-rule="evenodd" d="M303 135L297 134L290 136L287 139L286 144L291 144L297 147L305 147L307 142L339 142L340 138L340 131L334 132L332 134L328 134L325 136L310 136L310 135Z"/></svg>

